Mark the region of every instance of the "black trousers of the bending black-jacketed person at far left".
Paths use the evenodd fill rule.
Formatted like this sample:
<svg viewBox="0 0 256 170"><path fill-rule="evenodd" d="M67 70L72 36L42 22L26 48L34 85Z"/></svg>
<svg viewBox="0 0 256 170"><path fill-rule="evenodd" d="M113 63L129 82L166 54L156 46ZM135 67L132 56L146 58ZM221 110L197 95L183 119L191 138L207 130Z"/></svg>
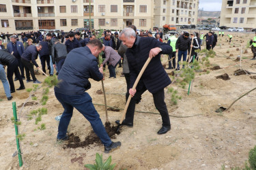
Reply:
<svg viewBox="0 0 256 170"><path fill-rule="evenodd" d="M14 80L13 75L15 74L15 77L18 78L20 81L20 87L25 87L23 83L23 78L20 75L20 71L18 70L18 60L15 60L14 62L10 63L7 67L7 78L10 84L10 90L15 91L14 87Z"/></svg>

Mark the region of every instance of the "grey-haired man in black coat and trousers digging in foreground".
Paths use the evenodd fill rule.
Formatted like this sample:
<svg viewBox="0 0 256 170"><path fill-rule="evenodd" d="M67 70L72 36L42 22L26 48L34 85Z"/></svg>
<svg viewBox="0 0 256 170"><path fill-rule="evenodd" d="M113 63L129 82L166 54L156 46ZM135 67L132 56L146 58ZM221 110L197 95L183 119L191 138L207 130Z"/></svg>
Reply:
<svg viewBox="0 0 256 170"><path fill-rule="evenodd" d="M164 88L171 84L171 80L162 67L160 54L171 54L172 48L169 44L163 44L154 37L139 37L131 28L124 29L119 37L128 48L126 56L130 69L129 93L132 95L126 112L126 119L122 122L122 125L133 126L136 100L138 97L141 97L143 92L149 90L153 95L156 109L158 109L162 116L162 128L158 131L158 134L165 134L171 129L171 122L165 104ZM149 57L152 58L152 61L147 65L137 88L132 90L139 72ZM116 123L119 124L119 120Z"/></svg>

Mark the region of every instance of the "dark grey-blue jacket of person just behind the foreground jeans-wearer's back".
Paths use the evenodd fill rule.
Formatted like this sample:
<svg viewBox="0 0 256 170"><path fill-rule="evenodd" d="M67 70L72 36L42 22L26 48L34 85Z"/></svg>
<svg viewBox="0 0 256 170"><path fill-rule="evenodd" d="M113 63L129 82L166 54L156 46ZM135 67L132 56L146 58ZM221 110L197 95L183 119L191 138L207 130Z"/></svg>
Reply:
<svg viewBox="0 0 256 170"><path fill-rule="evenodd" d="M65 59L68 55L67 48L64 44L57 43L53 45L52 48L52 61L55 65L55 61L58 63L60 59Z"/></svg>

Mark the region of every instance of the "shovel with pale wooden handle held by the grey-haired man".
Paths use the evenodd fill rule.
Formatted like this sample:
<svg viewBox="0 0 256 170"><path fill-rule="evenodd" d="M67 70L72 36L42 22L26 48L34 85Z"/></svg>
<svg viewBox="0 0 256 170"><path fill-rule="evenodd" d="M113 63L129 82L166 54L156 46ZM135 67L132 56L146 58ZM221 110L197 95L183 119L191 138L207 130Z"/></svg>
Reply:
<svg viewBox="0 0 256 170"><path fill-rule="evenodd" d="M143 65L141 71L139 72L139 75L138 75L137 79L135 80L135 82L134 82L134 84L133 84L133 86L132 86L132 90L135 90L135 88L137 87L137 85L138 85L138 83L139 83L139 80L141 79L141 75L144 73L144 71L145 71L145 69L147 68L147 65L150 63L151 59L152 59L152 58L150 58L150 57L147 58L147 61L146 61L145 64ZM127 102L126 102L126 107L124 107L124 113L123 113L123 115L122 115L122 118L121 118L119 124L117 125L117 131L116 131L117 133L119 133L120 126L121 126L121 124L122 124L122 122L123 122L123 120L124 120L124 117L126 116L126 111L127 111L127 109L128 109L128 105L130 104L130 99L132 99L132 95L129 95L128 100L127 100Z"/></svg>

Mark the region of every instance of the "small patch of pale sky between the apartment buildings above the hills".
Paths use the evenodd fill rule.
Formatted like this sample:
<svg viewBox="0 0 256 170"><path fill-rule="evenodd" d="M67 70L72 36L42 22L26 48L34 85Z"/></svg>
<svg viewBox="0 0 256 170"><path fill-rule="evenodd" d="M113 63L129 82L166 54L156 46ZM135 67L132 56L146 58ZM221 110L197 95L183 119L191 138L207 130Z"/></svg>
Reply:
<svg viewBox="0 0 256 170"><path fill-rule="evenodd" d="M221 11L222 0L199 0L199 9L204 11Z"/></svg>

